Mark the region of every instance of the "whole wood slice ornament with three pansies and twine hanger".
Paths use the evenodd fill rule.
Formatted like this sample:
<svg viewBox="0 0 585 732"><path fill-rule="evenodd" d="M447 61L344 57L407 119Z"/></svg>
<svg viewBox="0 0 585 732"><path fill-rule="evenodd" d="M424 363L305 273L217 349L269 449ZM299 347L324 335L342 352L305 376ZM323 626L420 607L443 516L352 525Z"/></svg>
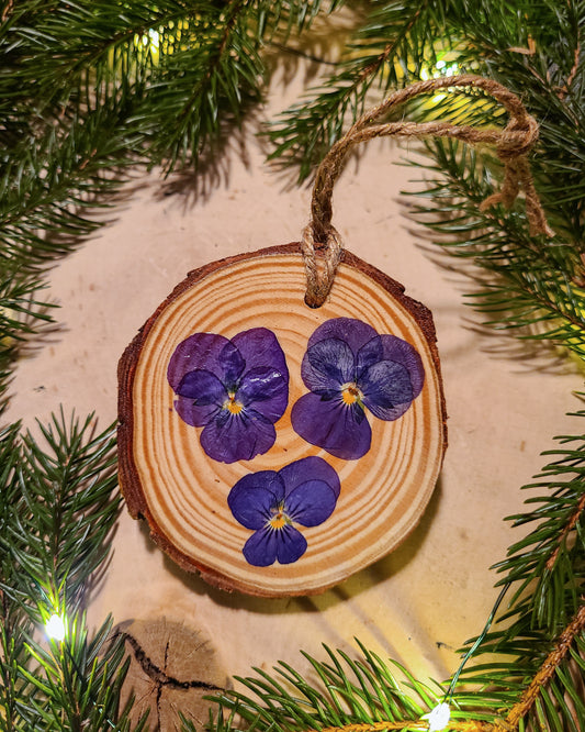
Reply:
<svg viewBox="0 0 585 732"><path fill-rule="evenodd" d="M372 124L421 91L470 85L510 111L502 157L514 160L508 184L524 188L533 224L541 209L524 154L536 137L519 100L481 77L413 85L361 118L324 159L303 242L190 273L122 356L128 510L212 585L266 597L319 592L385 556L419 521L447 445L431 313L342 249L330 200L357 142L481 140L473 134L487 133L443 123L408 132L405 123ZM506 185L490 203L510 202Z"/></svg>

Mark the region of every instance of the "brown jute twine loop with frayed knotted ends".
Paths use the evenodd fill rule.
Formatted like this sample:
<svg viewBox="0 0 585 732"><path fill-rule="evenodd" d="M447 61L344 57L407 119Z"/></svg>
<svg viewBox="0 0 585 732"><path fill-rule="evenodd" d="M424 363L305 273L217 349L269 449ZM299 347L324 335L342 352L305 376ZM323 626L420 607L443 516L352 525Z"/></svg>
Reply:
<svg viewBox="0 0 585 732"><path fill-rule="evenodd" d="M507 110L510 117L508 124L503 130L477 130L468 125L440 121L418 123L403 120L372 124L392 108L403 104L413 97L447 87L483 89ZM319 308L325 302L341 259L344 245L338 231L331 224L331 198L334 185L341 173L344 162L350 149L358 143L386 135L454 137L471 144L495 145L497 156L504 163L504 182L498 192L482 202L480 210L483 211L496 203L510 208L522 189L530 234L554 235L547 223L527 158L528 152L538 138L538 123L528 114L520 99L497 81L472 74L419 81L395 91L383 102L362 114L346 135L331 146L317 169L311 202L311 221L303 231L301 243L306 274L305 302L311 308ZM317 251L323 254L320 266Z"/></svg>

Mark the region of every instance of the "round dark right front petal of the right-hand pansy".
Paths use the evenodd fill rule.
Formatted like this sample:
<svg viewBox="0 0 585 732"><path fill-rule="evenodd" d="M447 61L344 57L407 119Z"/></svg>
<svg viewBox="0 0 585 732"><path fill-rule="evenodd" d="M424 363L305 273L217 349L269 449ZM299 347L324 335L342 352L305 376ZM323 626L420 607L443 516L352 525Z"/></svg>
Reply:
<svg viewBox="0 0 585 732"><path fill-rule="evenodd" d="M410 375L395 361L380 361L367 368L359 387L364 406L381 420L397 419L413 401Z"/></svg>

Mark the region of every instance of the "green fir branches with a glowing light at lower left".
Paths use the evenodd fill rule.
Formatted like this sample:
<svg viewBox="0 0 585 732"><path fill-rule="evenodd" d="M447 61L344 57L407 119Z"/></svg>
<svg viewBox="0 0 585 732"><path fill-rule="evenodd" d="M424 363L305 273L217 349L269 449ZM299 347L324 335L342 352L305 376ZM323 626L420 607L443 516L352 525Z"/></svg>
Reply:
<svg viewBox="0 0 585 732"><path fill-rule="evenodd" d="M114 432L63 414L38 430L0 435L0 730L130 731L123 641L82 611L119 513ZM42 634L54 613L63 642Z"/></svg>

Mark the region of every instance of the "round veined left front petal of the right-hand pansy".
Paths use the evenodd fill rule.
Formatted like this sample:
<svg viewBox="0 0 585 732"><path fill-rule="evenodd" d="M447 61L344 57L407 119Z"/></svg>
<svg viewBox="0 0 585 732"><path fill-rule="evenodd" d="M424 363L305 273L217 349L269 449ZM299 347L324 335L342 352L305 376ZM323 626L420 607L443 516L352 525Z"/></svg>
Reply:
<svg viewBox="0 0 585 732"><path fill-rule="evenodd" d="M303 381L312 391L335 389L356 378L356 358L339 339L325 339L310 348L301 364Z"/></svg>

